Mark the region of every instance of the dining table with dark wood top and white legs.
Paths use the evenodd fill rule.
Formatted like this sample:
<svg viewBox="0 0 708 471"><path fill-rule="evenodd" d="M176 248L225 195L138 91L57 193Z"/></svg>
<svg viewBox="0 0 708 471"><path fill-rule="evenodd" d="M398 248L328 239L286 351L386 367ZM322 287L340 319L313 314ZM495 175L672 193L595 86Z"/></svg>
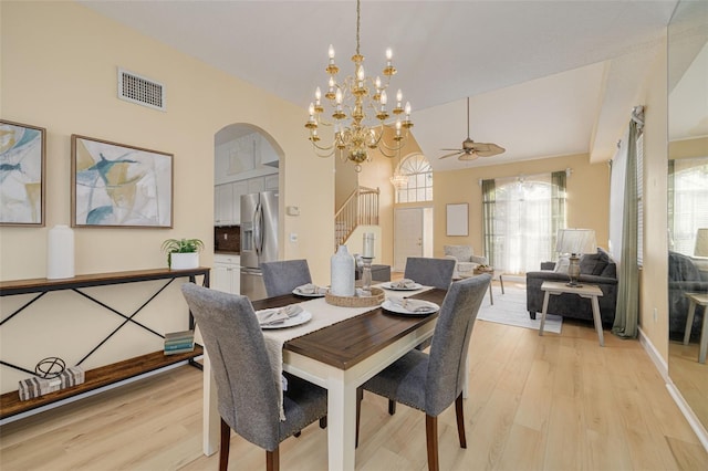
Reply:
<svg viewBox="0 0 708 471"><path fill-rule="evenodd" d="M446 290L429 286L405 293L386 291L387 296L425 300L438 306L446 294ZM344 314L342 321L285 341L282 344L282 369L327 390L327 468L331 471L352 471L355 465L356 389L433 336L438 312L406 315L375 305L351 311L353 314L347 316L341 310L351 307L329 304L323 297L295 294L269 297L252 304L254 310L260 311L294 303L300 303L303 310L312 313L311 322L322 316L341 318ZM271 335L269 329L262 332L264 337ZM216 383L207 352L204 359L205 454L218 450L219 423Z"/></svg>

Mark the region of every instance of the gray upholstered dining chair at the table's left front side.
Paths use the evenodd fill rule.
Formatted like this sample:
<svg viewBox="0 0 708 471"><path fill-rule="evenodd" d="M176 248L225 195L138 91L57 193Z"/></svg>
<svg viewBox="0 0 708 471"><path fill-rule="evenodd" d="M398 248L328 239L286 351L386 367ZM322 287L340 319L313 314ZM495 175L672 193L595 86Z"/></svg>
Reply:
<svg viewBox="0 0 708 471"><path fill-rule="evenodd" d="M278 388L251 302L246 296L185 283L181 292L197 321L211 360L221 416L219 470L229 462L231 429L266 449L268 470L278 470L280 442L325 417L327 394L288 375L280 420Z"/></svg>

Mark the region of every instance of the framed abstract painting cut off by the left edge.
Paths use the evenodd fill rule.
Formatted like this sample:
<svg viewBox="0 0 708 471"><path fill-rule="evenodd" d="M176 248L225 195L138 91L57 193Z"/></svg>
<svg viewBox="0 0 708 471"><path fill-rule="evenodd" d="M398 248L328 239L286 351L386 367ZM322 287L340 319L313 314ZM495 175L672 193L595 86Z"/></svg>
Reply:
<svg viewBox="0 0 708 471"><path fill-rule="evenodd" d="M0 119L0 226L44 226L46 129Z"/></svg>

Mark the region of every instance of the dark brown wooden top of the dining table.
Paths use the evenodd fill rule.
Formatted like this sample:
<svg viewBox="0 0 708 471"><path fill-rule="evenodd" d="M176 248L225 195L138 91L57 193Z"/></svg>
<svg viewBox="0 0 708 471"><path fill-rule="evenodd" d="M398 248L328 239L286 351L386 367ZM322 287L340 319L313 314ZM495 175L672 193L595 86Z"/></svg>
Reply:
<svg viewBox="0 0 708 471"><path fill-rule="evenodd" d="M442 305L446 293L446 290L433 289L410 297ZM285 294L256 301L253 307L280 307L303 301L308 300ZM374 307L360 316L288 341L283 348L341 369L348 369L437 316L437 313L427 316L405 316Z"/></svg>

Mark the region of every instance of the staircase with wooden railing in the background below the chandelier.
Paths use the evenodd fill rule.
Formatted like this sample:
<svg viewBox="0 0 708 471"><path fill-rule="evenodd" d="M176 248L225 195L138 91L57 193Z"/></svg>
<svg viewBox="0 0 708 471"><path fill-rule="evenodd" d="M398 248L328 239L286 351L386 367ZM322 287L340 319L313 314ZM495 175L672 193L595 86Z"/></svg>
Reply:
<svg viewBox="0 0 708 471"><path fill-rule="evenodd" d="M334 248L343 244L357 226L378 226L378 188L356 187L334 214Z"/></svg>

